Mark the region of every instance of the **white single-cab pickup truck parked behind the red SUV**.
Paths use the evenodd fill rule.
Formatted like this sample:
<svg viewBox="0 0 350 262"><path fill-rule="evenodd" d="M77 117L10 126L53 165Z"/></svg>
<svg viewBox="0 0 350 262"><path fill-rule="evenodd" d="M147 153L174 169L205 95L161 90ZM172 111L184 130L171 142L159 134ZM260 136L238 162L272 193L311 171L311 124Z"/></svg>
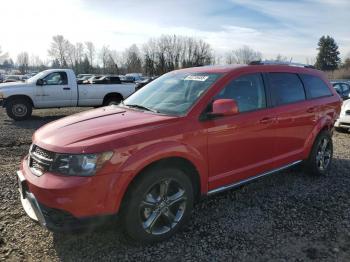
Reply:
<svg viewBox="0 0 350 262"><path fill-rule="evenodd" d="M50 69L24 83L0 84L0 106L14 120L31 116L33 108L118 104L135 92L134 84L78 85L71 69Z"/></svg>

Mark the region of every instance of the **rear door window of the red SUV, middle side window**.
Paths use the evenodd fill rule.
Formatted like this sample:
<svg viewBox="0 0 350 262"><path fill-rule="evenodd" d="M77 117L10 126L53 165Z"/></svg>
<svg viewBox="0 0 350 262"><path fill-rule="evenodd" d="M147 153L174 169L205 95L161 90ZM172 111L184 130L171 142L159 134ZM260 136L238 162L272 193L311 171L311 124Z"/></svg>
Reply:
<svg viewBox="0 0 350 262"><path fill-rule="evenodd" d="M303 84L296 74L269 73L269 80L275 105L285 105L306 99Z"/></svg>

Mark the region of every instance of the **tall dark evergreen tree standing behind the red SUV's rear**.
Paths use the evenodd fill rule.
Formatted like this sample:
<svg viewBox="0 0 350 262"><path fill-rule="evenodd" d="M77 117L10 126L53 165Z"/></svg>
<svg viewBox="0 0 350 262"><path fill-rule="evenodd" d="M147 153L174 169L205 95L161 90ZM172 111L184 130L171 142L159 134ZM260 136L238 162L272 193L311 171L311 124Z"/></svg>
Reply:
<svg viewBox="0 0 350 262"><path fill-rule="evenodd" d="M340 53L334 38L330 36L322 36L318 41L317 50L316 68L324 71L333 71L338 68L340 63Z"/></svg>

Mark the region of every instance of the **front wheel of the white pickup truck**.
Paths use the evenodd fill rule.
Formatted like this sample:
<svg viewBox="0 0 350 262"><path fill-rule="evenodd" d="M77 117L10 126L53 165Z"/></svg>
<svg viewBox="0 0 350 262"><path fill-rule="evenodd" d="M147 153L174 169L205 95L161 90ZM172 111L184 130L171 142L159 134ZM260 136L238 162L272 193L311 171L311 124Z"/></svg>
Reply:
<svg viewBox="0 0 350 262"><path fill-rule="evenodd" d="M32 105L28 99L15 98L6 104L7 115L16 121L28 119L32 115Z"/></svg>

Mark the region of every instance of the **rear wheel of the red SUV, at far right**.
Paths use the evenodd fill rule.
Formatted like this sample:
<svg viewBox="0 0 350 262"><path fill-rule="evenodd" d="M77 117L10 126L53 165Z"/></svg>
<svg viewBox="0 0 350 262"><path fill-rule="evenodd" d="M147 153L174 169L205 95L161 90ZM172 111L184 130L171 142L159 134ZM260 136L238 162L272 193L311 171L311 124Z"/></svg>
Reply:
<svg viewBox="0 0 350 262"><path fill-rule="evenodd" d="M322 131L316 138L310 155L305 162L306 171L321 176L329 172L333 158L333 141L328 131Z"/></svg>

